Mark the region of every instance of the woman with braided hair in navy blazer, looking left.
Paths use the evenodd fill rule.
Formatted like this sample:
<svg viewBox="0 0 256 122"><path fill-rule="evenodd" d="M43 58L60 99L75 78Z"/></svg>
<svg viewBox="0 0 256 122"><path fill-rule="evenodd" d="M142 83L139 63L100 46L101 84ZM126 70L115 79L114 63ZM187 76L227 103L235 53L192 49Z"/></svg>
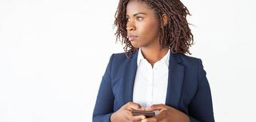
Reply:
<svg viewBox="0 0 256 122"><path fill-rule="evenodd" d="M187 14L179 0L120 0L114 24L125 53L110 57L94 122L214 122L202 61L185 55L193 44Z"/></svg>

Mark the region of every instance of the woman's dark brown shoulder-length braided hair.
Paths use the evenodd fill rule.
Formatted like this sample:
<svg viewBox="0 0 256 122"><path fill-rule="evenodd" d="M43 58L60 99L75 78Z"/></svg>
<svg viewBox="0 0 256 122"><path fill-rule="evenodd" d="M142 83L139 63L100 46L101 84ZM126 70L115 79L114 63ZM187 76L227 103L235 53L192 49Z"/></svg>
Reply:
<svg viewBox="0 0 256 122"><path fill-rule="evenodd" d="M193 34L189 28L190 23L186 21L189 14L186 6L180 0L140 0L146 2L158 19L158 35L161 49L169 48L171 53L190 53L189 48L194 43ZM116 30L116 41L121 41L126 56L134 53L137 49L131 45L126 30L126 6L129 0L120 0L117 11L114 14L114 26ZM166 14L168 20L163 25L162 15Z"/></svg>

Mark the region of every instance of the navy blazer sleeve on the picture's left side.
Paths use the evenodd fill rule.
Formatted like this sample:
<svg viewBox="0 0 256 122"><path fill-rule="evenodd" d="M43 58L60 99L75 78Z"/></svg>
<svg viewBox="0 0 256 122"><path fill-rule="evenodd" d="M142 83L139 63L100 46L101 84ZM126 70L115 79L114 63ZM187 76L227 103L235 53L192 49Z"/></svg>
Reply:
<svg viewBox="0 0 256 122"><path fill-rule="evenodd" d="M111 87L111 65L113 57L114 54L110 57L110 61L98 89L98 96L93 112L93 122L109 122L110 116L114 112L114 94Z"/></svg>

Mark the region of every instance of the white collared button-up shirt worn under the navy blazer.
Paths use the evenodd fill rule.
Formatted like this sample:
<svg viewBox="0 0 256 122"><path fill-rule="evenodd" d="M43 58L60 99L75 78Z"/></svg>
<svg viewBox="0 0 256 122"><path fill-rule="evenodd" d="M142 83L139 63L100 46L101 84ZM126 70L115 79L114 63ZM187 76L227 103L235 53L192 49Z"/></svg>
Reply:
<svg viewBox="0 0 256 122"><path fill-rule="evenodd" d="M143 57L141 49L138 50L138 69L134 81L133 102L142 107L166 104L169 57L170 49L162 59L154 63L152 68Z"/></svg>

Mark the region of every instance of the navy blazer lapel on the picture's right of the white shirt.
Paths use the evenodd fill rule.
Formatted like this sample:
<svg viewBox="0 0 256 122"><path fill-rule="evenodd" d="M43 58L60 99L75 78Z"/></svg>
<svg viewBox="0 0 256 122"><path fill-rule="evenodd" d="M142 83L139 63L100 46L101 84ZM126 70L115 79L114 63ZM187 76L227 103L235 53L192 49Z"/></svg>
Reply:
<svg viewBox="0 0 256 122"><path fill-rule="evenodd" d="M178 54L170 53L166 105L170 105L175 108L178 108L184 77L184 66L178 64L181 61L182 60L178 57Z"/></svg>

